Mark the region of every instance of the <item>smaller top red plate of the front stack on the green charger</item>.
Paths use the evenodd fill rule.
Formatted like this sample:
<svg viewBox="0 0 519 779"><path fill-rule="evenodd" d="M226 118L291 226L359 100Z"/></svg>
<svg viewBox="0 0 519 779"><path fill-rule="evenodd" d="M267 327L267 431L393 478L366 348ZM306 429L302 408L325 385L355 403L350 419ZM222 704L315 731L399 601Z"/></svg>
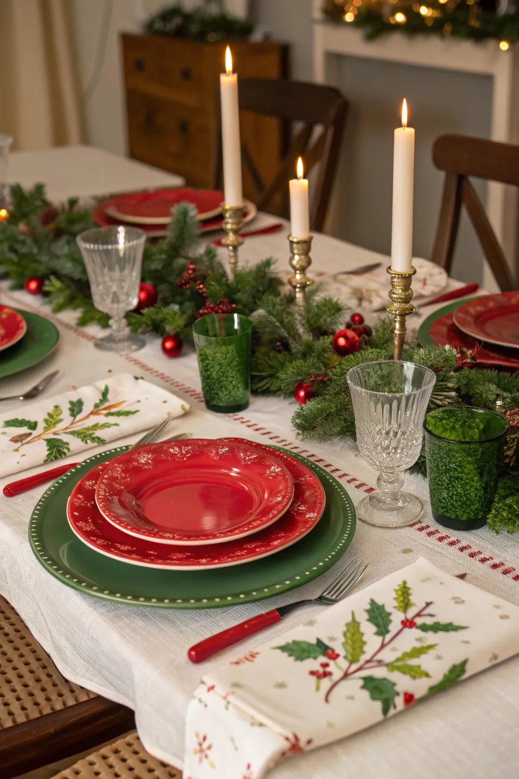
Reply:
<svg viewBox="0 0 519 779"><path fill-rule="evenodd" d="M106 519L161 544L221 544L272 524L293 499L272 454L214 439L141 446L110 464L96 489Z"/></svg>

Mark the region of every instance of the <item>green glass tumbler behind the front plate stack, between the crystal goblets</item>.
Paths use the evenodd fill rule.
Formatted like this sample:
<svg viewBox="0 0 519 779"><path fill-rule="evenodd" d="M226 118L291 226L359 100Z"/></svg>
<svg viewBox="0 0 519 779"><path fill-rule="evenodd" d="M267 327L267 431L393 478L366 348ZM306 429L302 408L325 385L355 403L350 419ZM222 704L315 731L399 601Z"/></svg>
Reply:
<svg viewBox="0 0 519 779"><path fill-rule="evenodd" d="M243 411L251 394L253 323L241 314L208 314L193 323L198 369L210 411Z"/></svg>

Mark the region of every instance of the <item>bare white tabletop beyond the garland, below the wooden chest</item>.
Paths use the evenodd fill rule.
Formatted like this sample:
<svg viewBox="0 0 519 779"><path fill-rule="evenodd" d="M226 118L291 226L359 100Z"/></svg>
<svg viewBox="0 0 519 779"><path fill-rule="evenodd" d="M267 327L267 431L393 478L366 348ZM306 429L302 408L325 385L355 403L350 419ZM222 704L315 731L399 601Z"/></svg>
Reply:
<svg viewBox="0 0 519 779"><path fill-rule="evenodd" d="M182 176L94 146L14 151L9 155L7 175L9 183L23 187L44 184L47 197L56 203L72 196L86 198L184 184Z"/></svg>

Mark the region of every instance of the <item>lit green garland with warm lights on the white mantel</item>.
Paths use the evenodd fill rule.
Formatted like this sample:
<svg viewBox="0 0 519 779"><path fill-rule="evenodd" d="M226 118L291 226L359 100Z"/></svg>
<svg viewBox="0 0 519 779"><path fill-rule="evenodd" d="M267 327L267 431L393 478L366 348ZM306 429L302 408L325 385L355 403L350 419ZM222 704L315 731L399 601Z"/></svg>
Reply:
<svg viewBox="0 0 519 779"><path fill-rule="evenodd" d="M496 40L507 51L519 41L519 10L504 13L478 0L324 0L323 13L333 22L359 27L366 41L387 33L429 35L468 41Z"/></svg>

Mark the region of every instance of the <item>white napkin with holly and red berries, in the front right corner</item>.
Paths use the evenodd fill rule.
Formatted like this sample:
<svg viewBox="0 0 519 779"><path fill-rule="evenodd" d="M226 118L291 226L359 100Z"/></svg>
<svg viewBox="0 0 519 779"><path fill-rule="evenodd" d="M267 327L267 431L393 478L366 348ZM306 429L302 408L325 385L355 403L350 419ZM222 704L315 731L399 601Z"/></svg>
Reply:
<svg viewBox="0 0 519 779"><path fill-rule="evenodd" d="M204 675L184 777L259 779L518 651L517 606L419 558Z"/></svg>

